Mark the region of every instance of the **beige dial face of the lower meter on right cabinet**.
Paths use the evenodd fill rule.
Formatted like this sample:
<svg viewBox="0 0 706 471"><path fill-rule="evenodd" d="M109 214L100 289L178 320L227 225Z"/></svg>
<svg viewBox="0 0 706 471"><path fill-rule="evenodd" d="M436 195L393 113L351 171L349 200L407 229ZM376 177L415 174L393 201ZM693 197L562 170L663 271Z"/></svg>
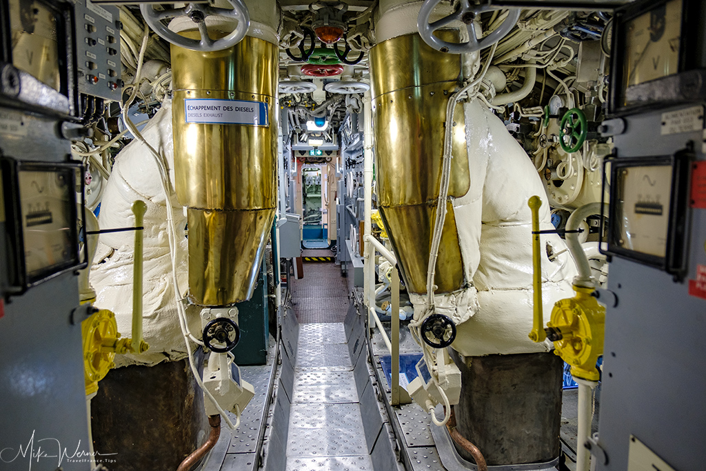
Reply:
<svg viewBox="0 0 706 471"><path fill-rule="evenodd" d="M664 257L671 201L669 165L618 169L620 235L617 245L642 254Z"/></svg>

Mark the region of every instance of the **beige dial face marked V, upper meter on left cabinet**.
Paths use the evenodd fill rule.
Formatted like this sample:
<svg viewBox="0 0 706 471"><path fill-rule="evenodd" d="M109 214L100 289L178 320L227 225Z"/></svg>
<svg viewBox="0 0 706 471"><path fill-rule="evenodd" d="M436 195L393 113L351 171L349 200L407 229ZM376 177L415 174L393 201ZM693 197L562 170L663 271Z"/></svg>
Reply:
<svg viewBox="0 0 706 471"><path fill-rule="evenodd" d="M56 13L39 1L10 0L12 63L61 91Z"/></svg>

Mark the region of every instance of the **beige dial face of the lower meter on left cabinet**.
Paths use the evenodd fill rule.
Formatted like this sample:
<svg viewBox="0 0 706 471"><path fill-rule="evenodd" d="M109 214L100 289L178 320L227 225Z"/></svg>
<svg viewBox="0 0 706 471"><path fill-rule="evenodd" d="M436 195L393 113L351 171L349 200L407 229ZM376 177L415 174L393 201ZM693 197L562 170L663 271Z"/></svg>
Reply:
<svg viewBox="0 0 706 471"><path fill-rule="evenodd" d="M73 169L18 172L25 267L30 280L76 262Z"/></svg>

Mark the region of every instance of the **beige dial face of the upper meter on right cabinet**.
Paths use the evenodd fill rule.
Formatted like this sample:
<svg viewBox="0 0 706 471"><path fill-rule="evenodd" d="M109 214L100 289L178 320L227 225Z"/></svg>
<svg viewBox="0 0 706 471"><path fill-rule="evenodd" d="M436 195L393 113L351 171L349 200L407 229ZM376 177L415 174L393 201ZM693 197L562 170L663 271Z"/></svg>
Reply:
<svg viewBox="0 0 706 471"><path fill-rule="evenodd" d="M623 90L678 72L682 0L670 0L625 25Z"/></svg>

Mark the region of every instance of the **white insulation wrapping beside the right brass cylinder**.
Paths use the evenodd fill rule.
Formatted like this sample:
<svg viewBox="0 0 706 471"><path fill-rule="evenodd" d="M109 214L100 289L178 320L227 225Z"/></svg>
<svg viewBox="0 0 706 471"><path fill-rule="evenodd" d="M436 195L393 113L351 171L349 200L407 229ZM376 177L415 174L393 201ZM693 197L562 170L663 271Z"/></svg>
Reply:
<svg viewBox="0 0 706 471"><path fill-rule="evenodd" d="M478 100L466 103L465 125L470 189L452 198L465 279L472 286L434 297L436 312L457 323L453 348L465 356L544 352L551 342L534 343L532 330L532 221L527 201L542 198L540 228L551 225L549 204L536 169L503 122ZM549 261L546 246L554 254ZM545 321L554 302L572 297L576 273L566 244L542 235L542 297ZM427 309L426 296L412 295L415 318Z"/></svg>

